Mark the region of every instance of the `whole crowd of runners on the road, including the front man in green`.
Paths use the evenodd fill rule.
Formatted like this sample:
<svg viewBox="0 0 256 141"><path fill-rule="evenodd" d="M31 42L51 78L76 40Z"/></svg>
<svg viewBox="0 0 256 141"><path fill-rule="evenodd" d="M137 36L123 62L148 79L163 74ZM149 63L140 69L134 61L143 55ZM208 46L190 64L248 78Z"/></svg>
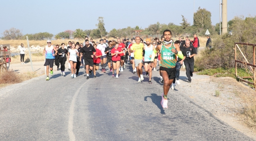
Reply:
<svg viewBox="0 0 256 141"><path fill-rule="evenodd" d="M137 72L138 82L144 80L143 68L146 76L149 77L148 83L152 84L152 71L156 71L159 64L159 77L163 83L163 94L161 105L167 108L167 93L169 89L175 89L175 85L180 85L179 75L182 64L186 66L186 75L188 82L191 82L194 68L194 58L197 49L193 46L198 44L199 40L194 35L195 40L186 41L179 38L177 41L171 39L171 31L165 30L161 41L159 38L146 40L139 36L127 39L117 39L108 41L101 39L100 42L94 42L93 39L86 36L83 43L69 42L66 48L65 43L52 45L51 40L47 40L44 49L46 57L46 80L49 80L50 74L53 74L54 64L57 71L61 70L61 75L65 76L65 63L69 62L68 70L71 71L71 78L76 78L80 67L84 66L86 79L96 78L96 71L101 66L101 72L106 73L106 67L112 72L112 77L119 78L119 72L124 71L125 65L129 62L132 64L132 72ZM59 68L60 67L60 68Z"/></svg>

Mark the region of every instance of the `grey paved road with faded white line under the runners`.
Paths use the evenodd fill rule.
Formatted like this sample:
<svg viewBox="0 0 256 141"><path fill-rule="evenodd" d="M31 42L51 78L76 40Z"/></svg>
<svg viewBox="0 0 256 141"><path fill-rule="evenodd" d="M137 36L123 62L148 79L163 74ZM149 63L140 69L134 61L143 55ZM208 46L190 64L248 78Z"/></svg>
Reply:
<svg viewBox="0 0 256 141"><path fill-rule="evenodd" d="M158 71L152 84L147 77L138 83L128 69L119 79L99 71L96 79L86 80L82 71L77 78L54 72L50 81L40 76L0 89L0 140L252 140L193 103L178 87L170 90L169 108L163 109Z"/></svg>

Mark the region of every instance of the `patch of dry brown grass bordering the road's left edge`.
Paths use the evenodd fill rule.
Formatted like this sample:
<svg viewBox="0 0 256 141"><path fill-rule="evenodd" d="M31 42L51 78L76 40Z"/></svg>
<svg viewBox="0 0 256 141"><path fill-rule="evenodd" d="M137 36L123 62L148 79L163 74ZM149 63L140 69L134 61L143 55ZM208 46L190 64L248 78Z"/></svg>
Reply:
<svg viewBox="0 0 256 141"><path fill-rule="evenodd" d="M14 71L0 72L0 87L21 83L22 81L30 80L40 75L37 72L26 72L22 74L15 73Z"/></svg>

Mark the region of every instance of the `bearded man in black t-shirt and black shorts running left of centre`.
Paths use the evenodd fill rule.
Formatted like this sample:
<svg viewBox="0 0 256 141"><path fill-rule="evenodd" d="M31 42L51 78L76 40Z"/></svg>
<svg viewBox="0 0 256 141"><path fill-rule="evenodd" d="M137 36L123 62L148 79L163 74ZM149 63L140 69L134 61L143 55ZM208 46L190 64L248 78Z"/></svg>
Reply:
<svg viewBox="0 0 256 141"><path fill-rule="evenodd" d="M91 44L89 44L89 40L85 40L85 46L82 47L80 51L80 56L82 56L84 59L87 80L89 79L89 74L91 75L91 71L93 70L93 55L95 54L96 54L95 48Z"/></svg>

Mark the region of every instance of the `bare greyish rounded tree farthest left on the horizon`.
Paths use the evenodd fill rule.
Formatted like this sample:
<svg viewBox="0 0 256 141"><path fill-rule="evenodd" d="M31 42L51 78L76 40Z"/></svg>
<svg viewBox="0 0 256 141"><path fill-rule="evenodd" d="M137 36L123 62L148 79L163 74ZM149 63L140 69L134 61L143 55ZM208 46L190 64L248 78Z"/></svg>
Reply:
<svg viewBox="0 0 256 141"><path fill-rule="evenodd" d="M22 37L22 32L14 27L4 31L4 33L2 34L4 35L4 39L6 40L17 40Z"/></svg>

